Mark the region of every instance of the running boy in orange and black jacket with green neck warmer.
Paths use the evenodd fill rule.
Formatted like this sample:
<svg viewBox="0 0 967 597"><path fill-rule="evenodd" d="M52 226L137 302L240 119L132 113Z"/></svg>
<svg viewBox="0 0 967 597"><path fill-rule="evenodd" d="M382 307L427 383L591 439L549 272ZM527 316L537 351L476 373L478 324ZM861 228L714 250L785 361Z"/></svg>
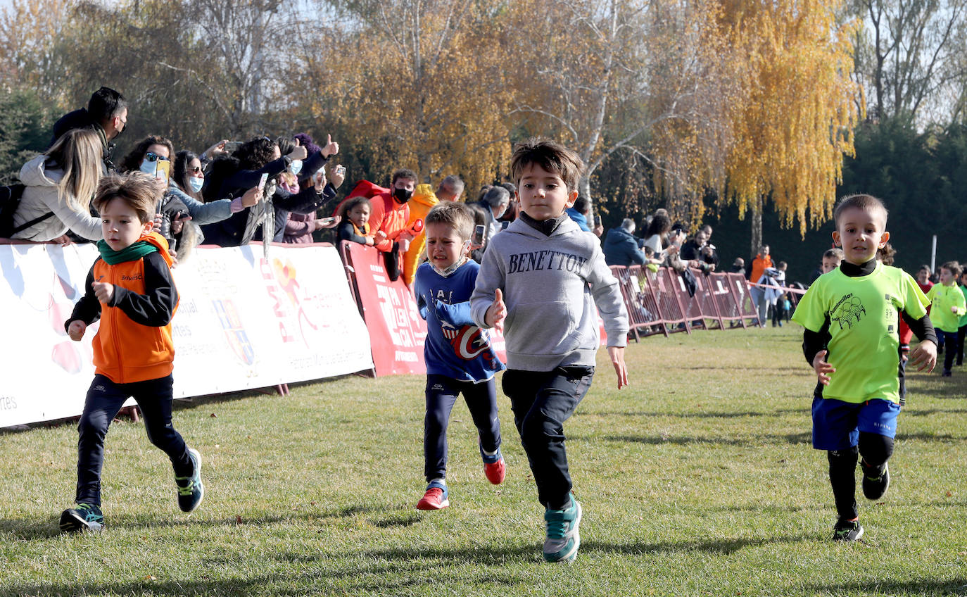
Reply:
<svg viewBox="0 0 967 597"><path fill-rule="evenodd" d="M171 459L178 506L191 512L204 497L201 459L171 425L171 317L178 308L178 290L168 244L151 231L156 202L154 178L141 172L103 178L93 201L101 214L101 256L87 275L87 291L64 323L71 340L80 341L87 326L101 319L94 337L94 381L77 425L76 506L60 519L65 532L103 528L104 435L131 397L141 408L151 443Z"/></svg>

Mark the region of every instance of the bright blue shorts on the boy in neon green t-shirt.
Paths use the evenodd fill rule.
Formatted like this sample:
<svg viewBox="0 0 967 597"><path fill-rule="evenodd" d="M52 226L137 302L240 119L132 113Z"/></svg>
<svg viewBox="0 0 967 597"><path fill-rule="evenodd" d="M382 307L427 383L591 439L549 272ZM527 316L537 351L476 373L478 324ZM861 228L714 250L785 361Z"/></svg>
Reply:
<svg viewBox="0 0 967 597"><path fill-rule="evenodd" d="M888 400L844 403L815 396L812 399L812 447L846 450L859 443L860 432L894 437L899 413L900 405Z"/></svg>

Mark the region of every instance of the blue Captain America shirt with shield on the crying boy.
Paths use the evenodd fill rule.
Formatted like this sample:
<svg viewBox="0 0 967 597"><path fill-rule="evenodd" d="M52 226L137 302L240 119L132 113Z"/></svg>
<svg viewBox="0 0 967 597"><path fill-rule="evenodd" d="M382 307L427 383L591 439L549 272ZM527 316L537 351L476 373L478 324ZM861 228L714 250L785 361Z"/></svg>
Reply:
<svg viewBox="0 0 967 597"><path fill-rule="evenodd" d="M417 268L413 282L417 307L426 320L426 373L479 383L507 369L490 343L487 330L470 316L470 295L480 264L467 260L449 277L429 263Z"/></svg>

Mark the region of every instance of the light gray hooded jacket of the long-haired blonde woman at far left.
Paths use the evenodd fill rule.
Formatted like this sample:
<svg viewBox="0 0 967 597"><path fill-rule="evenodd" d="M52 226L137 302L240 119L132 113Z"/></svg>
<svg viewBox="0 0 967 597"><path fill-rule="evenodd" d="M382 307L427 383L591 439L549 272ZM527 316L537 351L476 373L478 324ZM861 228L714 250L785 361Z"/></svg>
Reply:
<svg viewBox="0 0 967 597"><path fill-rule="evenodd" d="M45 243L61 236L71 228L83 238L101 240L103 238L101 219L83 211L76 204L72 207L66 196L61 198L57 192L57 185L63 178L64 172L60 169L47 169L44 163L46 159L47 157L41 154L20 168L20 182L26 188L23 190L19 205L16 206L14 225L26 224L51 212L54 215L52 218L20 230L14 238Z"/></svg>

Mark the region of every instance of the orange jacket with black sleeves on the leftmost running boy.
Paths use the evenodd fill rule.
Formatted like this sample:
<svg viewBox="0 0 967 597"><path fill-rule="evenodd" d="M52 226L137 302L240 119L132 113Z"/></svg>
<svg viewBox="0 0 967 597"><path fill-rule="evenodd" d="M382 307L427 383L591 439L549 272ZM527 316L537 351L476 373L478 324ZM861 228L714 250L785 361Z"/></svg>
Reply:
<svg viewBox="0 0 967 597"><path fill-rule="evenodd" d="M101 257L87 275L86 292L74 305L71 321L90 325L101 319L94 337L95 373L114 383L159 379L174 369L171 318L178 309L178 290L171 277L168 243L157 232L145 240L158 248L133 261L108 265ZM110 303L94 294L94 282L114 284Z"/></svg>

